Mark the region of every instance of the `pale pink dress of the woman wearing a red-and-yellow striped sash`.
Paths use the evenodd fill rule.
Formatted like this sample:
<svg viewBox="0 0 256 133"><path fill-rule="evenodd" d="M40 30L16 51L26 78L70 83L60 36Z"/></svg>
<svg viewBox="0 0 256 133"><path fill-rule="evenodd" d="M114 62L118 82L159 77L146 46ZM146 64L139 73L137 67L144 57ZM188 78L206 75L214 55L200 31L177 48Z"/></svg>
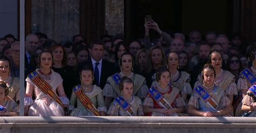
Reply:
<svg viewBox="0 0 256 133"><path fill-rule="evenodd" d="M38 73L39 69L36 69ZM41 74L39 74L41 75ZM51 70L51 78L50 80L44 79L49 85L52 87L53 92L56 93L57 88L60 87L58 90L59 95L65 95L63 86L62 86L62 77L60 77L59 73L54 72ZM28 115L29 116L64 116L64 109L63 107L58 104L57 101L53 100L49 97L48 94L43 93L40 88L38 88L28 77L26 78L27 84L26 86L26 95L30 97L24 98L25 106L30 106ZM35 91L36 99L32 101L32 92ZM69 99L66 97L59 97L63 104L69 105Z"/></svg>

